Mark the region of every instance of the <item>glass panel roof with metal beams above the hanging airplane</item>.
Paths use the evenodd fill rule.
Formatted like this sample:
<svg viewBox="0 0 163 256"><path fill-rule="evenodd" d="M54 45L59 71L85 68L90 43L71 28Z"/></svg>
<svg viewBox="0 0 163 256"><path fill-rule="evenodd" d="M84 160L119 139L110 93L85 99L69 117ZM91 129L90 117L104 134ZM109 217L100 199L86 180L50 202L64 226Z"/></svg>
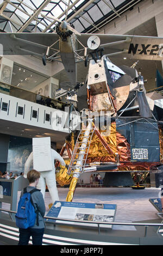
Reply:
<svg viewBox="0 0 163 256"><path fill-rule="evenodd" d="M52 15L75 26L80 33L94 33L142 0L0 0L1 32L53 32ZM67 11L68 8L68 11Z"/></svg>

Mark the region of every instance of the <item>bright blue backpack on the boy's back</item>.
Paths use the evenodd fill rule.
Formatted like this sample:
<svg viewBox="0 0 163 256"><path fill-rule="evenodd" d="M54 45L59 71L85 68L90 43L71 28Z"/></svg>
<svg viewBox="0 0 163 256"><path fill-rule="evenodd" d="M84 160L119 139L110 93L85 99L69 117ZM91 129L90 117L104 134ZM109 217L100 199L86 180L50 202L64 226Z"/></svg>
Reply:
<svg viewBox="0 0 163 256"><path fill-rule="evenodd" d="M30 192L27 192L27 187L23 190L23 196L20 198L17 207L16 225L18 228L31 228L35 224L37 217L37 225L39 225L39 210L35 210L31 194L34 193L37 188L34 188Z"/></svg>

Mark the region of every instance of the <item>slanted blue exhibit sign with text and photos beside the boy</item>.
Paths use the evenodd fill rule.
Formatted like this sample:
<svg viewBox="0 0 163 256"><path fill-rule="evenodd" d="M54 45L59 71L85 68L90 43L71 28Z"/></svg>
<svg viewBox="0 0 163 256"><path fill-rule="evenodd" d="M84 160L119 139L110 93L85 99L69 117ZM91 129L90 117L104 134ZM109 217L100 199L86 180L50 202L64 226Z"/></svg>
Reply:
<svg viewBox="0 0 163 256"><path fill-rule="evenodd" d="M97 227L97 224L95 222L114 222L116 207L116 204L92 204L83 202L77 203L55 201L46 216L64 218L69 220L90 221L90 223L71 222L71 224L84 225L87 227ZM49 220L48 218L46 219L46 221L70 224L70 222L68 221ZM112 228L112 225L100 224L100 227Z"/></svg>

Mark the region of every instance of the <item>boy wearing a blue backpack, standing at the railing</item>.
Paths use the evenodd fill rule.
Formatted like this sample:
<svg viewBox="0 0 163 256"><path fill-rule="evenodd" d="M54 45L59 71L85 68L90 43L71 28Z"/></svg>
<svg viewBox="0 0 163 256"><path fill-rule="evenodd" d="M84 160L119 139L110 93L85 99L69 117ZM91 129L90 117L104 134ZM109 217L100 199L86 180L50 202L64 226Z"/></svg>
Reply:
<svg viewBox="0 0 163 256"><path fill-rule="evenodd" d="M42 245L45 228L43 216L46 208L42 193L36 188L39 178L39 172L30 170L27 174L29 185L21 192L15 215L16 225L20 231L18 245L28 245L30 236L32 236L33 245Z"/></svg>

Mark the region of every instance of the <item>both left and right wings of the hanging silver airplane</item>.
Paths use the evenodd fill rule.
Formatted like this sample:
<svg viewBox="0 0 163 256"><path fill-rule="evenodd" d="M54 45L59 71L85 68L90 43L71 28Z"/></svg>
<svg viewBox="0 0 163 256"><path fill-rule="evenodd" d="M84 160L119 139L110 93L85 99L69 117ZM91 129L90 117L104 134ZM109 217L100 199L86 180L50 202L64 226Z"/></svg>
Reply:
<svg viewBox="0 0 163 256"><path fill-rule="evenodd" d="M133 59L162 60L163 38L137 35L81 34L77 39L87 47L91 35L99 37L103 54L125 54ZM28 55L46 53L47 47L59 39L57 33L0 33L4 55ZM52 48L59 49L59 43ZM78 44L78 48L83 48ZM88 53L91 51L87 48ZM54 54L53 49L49 55ZM110 55L110 56L111 56Z"/></svg>

